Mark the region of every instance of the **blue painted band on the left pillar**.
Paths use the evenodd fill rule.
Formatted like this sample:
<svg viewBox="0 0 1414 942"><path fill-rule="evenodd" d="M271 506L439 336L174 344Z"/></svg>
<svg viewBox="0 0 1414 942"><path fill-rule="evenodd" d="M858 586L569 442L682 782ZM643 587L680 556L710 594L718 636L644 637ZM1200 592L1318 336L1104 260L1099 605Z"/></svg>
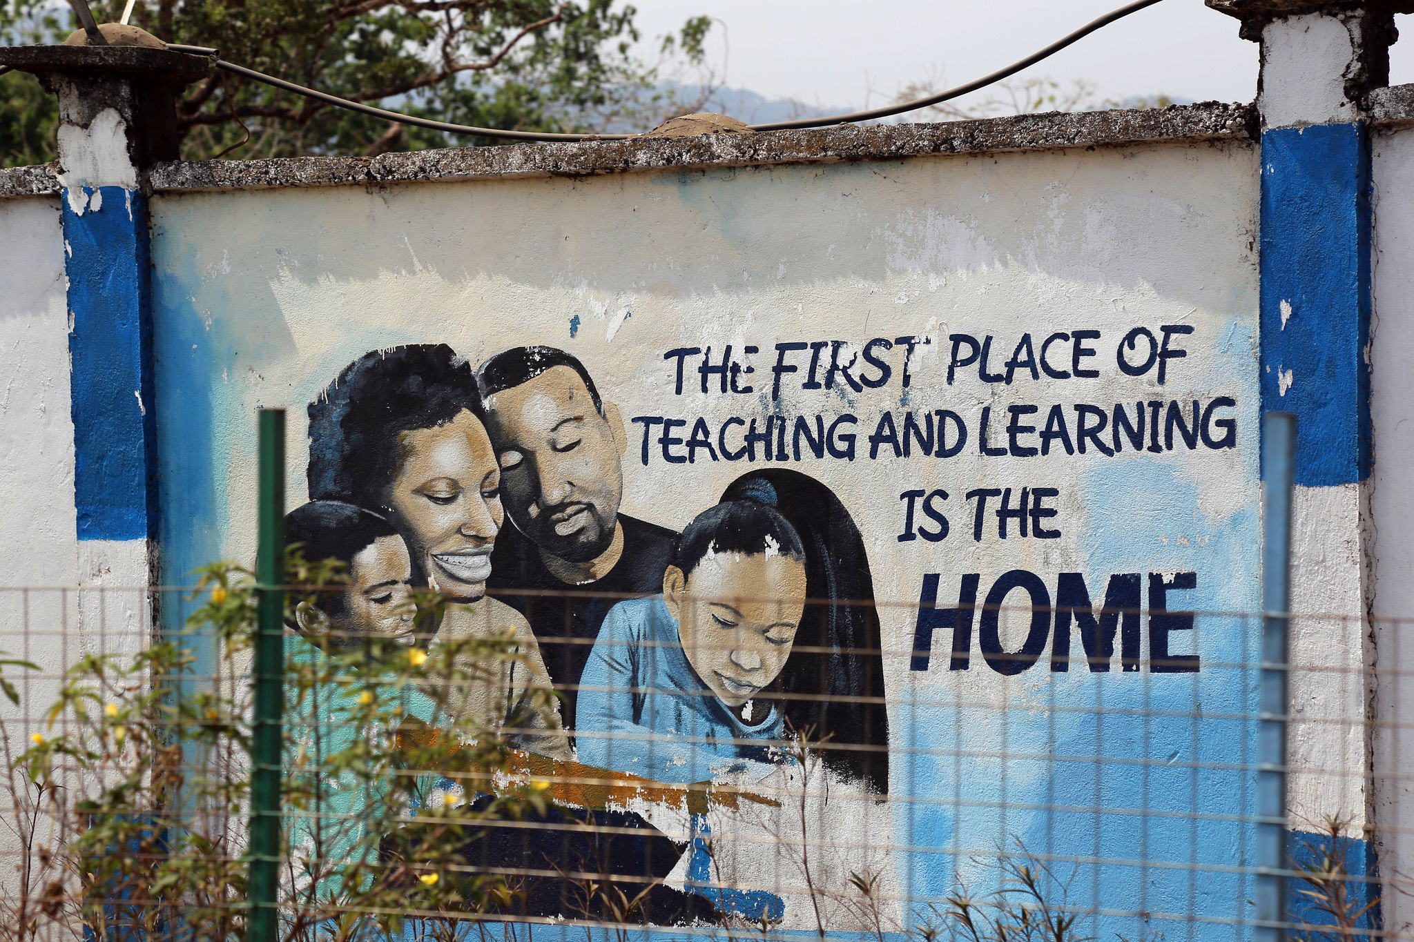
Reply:
<svg viewBox="0 0 1414 942"><path fill-rule="evenodd" d="M100 186L65 192L62 205L78 537L147 539L157 517L147 201Z"/></svg>

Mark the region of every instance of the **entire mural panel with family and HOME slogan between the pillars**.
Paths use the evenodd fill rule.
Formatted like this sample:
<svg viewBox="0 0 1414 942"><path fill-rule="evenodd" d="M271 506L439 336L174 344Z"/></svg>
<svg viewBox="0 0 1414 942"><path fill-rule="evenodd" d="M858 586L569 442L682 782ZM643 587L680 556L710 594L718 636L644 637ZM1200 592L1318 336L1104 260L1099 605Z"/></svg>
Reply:
<svg viewBox="0 0 1414 942"><path fill-rule="evenodd" d="M250 554L284 405L291 539L352 580L296 630L513 637L455 709L631 784L481 843L551 874L527 915L592 863L659 925L868 931L864 877L911 928L1019 845L1157 914L1087 935L1243 938L1250 160L156 201L164 566Z"/></svg>

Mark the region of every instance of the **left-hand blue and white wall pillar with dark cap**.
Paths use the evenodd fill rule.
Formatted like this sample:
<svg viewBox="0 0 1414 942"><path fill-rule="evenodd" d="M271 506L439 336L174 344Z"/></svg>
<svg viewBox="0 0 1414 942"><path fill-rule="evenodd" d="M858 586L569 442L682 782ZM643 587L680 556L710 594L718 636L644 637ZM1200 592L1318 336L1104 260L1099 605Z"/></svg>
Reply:
<svg viewBox="0 0 1414 942"><path fill-rule="evenodd" d="M208 69L140 30L115 41L123 45L6 49L0 61L37 73L59 100L78 575L81 589L109 589L79 592L81 648L90 652L139 650L156 624L146 171L177 157L173 92Z"/></svg>

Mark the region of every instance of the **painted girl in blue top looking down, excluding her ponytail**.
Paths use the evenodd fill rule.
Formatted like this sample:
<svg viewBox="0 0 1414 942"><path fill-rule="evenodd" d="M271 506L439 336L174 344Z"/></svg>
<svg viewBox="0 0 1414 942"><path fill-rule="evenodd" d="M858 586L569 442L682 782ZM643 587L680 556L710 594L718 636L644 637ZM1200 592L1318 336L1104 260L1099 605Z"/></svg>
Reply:
<svg viewBox="0 0 1414 942"><path fill-rule="evenodd" d="M769 688L805 586L800 538L773 507L734 500L699 514L663 595L621 602L604 621L575 712L580 761L676 784L785 761Z"/></svg>

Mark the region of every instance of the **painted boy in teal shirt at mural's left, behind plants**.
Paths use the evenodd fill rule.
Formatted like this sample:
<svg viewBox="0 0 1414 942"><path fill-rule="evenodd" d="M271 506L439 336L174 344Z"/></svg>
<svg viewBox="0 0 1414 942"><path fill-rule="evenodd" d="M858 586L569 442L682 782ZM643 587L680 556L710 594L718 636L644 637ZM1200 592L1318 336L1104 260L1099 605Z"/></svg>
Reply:
<svg viewBox="0 0 1414 942"><path fill-rule="evenodd" d="M393 679L395 660L404 664L427 662L423 645L427 638L414 636L414 610L410 597L411 559L393 524L369 510L339 501L312 501L286 517L287 539L298 544L310 561L334 561L346 569L348 585L317 593L294 612L297 634L286 638L286 662L303 684L290 686L291 756L287 767L296 770L296 782L308 792L303 812L291 812L291 847L296 859L310 860L311 874L321 897L341 891L338 871L342 864L378 861L376 840L366 833L365 822L389 799L382 781L369 781L352 773L328 773L329 757L348 750L361 737L382 737L378 725L365 726L359 716L369 700L396 698L402 726L397 736L423 737L427 730L450 733L475 732L516 725L506 737L512 747L534 751L537 746L553 757L568 756L568 740L553 709L527 709L533 691L505 682L503 660L462 665L468 679L451 685L428 679L421 685L379 684L378 672L351 678L351 661L341 652L365 645L372 657L389 665ZM445 641L431 640L436 648ZM379 644L382 641L382 644ZM355 661L358 658L354 658ZM520 671L527 674L527 671ZM544 668L540 668L544 674ZM488 692L488 684L498 684ZM441 689L438 689L441 688ZM462 689L465 688L465 689ZM544 681L549 689L549 681ZM386 716L389 710L382 710ZM304 770L304 774L301 774ZM436 770L427 770L413 784L419 797L437 791L443 782ZM386 811L386 808L385 808ZM382 835L379 835L382 836Z"/></svg>

